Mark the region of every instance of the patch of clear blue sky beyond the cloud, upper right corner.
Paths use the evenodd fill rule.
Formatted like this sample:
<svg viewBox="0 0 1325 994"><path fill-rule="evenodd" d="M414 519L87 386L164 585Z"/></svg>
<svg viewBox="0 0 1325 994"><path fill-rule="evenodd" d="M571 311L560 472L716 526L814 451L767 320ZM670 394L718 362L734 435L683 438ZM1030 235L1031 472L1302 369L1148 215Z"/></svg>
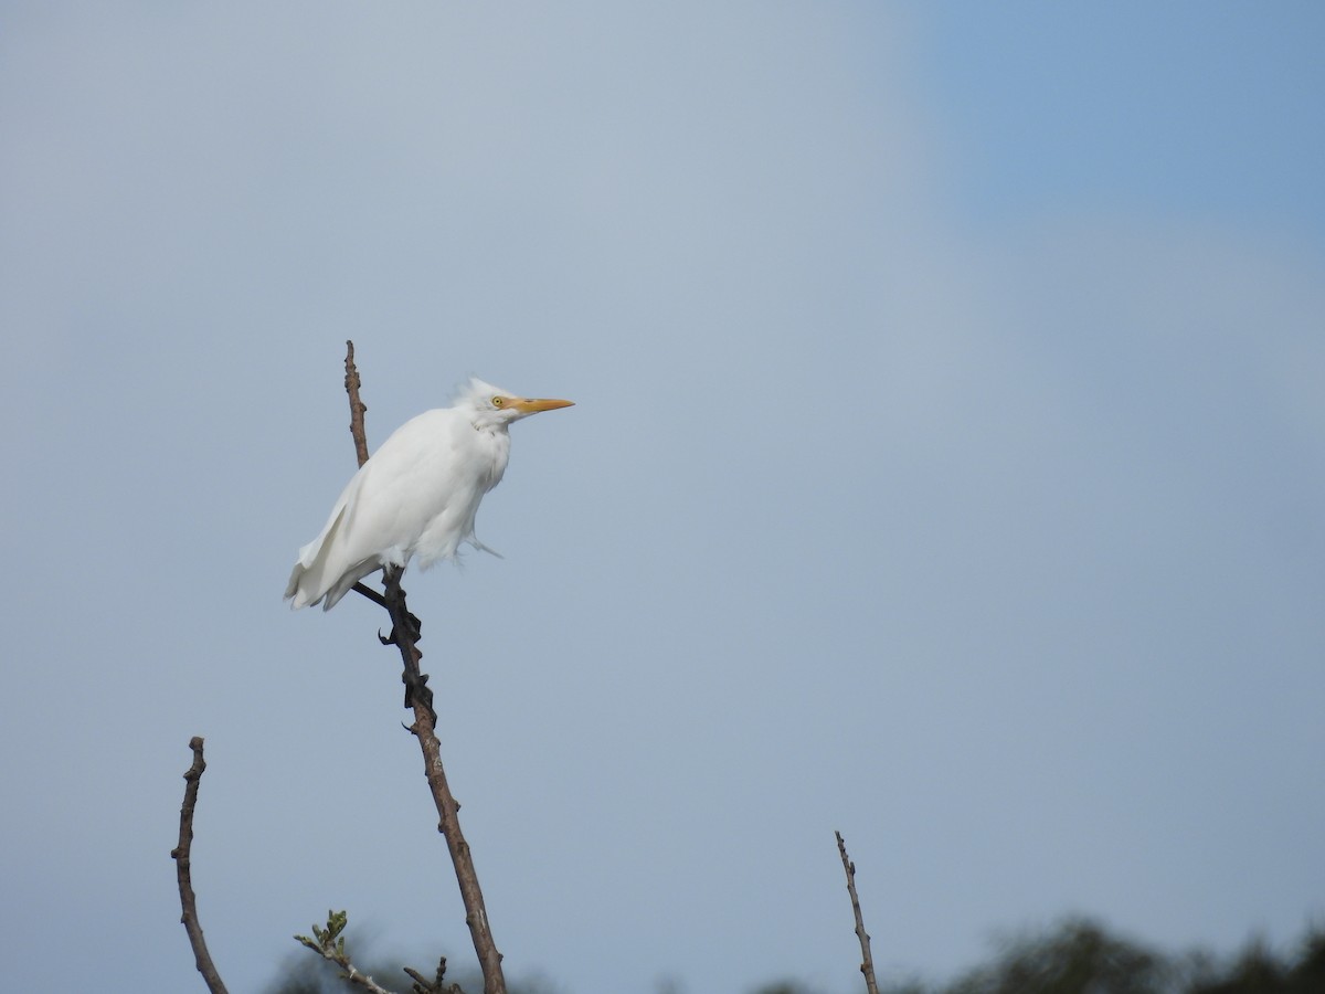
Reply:
<svg viewBox="0 0 1325 994"><path fill-rule="evenodd" d="M937 3L917 76L962 216L999 228L1104 208L1316 240L1325 216L1310 3ZM1287 27L1292 25L1292 27Z"/></svg>

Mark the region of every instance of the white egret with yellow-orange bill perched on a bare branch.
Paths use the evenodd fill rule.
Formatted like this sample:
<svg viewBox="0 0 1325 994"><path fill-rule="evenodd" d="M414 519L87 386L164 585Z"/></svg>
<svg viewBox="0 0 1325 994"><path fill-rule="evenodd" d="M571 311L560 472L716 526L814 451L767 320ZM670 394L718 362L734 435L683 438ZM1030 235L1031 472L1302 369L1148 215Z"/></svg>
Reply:
<svg viewBox="0 0 1325 994"><path fill-rule="evenodd" d="M456 403L400 425L364 463L331 509L322 534L299 550L285 588L292 607L330 611L355 583L384 566L423 569L454 558L474 535L484 494L501 482L511 421L570 400L531 400L472 379Z"/></svg>

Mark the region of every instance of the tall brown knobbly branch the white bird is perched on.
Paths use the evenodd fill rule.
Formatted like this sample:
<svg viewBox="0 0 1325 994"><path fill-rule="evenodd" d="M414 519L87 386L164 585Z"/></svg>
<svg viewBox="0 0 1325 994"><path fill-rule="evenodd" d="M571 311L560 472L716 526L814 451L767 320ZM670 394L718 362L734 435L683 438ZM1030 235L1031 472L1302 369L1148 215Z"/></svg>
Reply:
<svg viewBox="0 0 1325 994"><path fill-rule="evenodd" d="M363 412L367 410L359 399L359 370L354 364L354 342L346 342L344 357L344 388L350 396L350 431L354 435L355 452L362 467L368 459L368 444L363 427ZM400 659L404 663L401 680L405 685L405 706L415 713L413 725L409 732L419 740L419 749L423 753L424 775L428 778L428 787L432 793L433 804L437 808L437 831L447 839L447 848L450 852L450 863L456 868L456 883L460 885L460 896L465 903L465 924L469 925L469 936L474 944L474 953L478 956L478 966L484 973L484 994L505 994L506 978L502 974L502 956L497 952L492 930L488 926L488 909L484 904L484 892L478 885L478 873L474 871L474 861L469 852L469 843L465 842L460 830L460 804L450 793L447 783L447 771L441 765L441 742L437 741L437 713L432 708L432 690L428 689L428 675L419 667L423 652L419 651L419 619L409 614L405 603L405 592L400 588L400 567L387 567L383 570L383 594L378 594L371 587L362 583L355 584L355 590L374 603L382 604L391 615L391 636L383 639L384 644L394 644L400 649ZM439 977L440 981L440 977Z"/></svg>

